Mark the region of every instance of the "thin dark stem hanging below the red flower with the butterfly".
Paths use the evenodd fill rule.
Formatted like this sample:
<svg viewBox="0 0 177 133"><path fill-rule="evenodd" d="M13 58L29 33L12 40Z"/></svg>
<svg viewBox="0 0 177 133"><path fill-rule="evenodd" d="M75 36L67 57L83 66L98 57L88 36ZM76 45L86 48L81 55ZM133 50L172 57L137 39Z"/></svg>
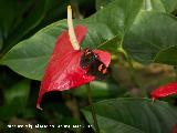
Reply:
<svg viewBox="0 0 177 133"><path fill-rule="evenodd" d="M90 105L91 105L91 112L92 112L94 126L95 126L96 133L100 133L100 127L98 127L98 123L97 123L97 119L96 119L96 113L95 113L95 109L94 109L93 101L92 101L92 91L91 91L90 83L86 84L86 90L87 90L87 95L88 95L88 102L90 102Z"/></svg>

